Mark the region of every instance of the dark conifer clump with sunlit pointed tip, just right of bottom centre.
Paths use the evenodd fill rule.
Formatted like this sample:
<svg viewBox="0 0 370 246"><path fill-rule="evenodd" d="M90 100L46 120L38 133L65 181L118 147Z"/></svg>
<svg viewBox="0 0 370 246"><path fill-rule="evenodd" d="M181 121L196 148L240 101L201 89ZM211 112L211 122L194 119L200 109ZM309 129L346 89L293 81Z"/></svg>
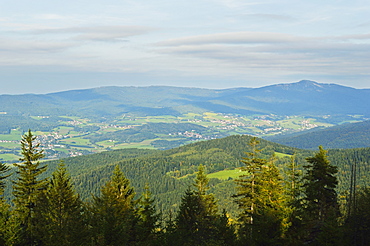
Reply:
<svg viewBox="0 0 370 246"><path fill-rule="evenodd" d="M204 167L200 166L195 183L182 197L175 219L174 235L178 245L232 245L232 228L224 212L218 214L218 207L212 194L208 194L208 179Z"/></svg>

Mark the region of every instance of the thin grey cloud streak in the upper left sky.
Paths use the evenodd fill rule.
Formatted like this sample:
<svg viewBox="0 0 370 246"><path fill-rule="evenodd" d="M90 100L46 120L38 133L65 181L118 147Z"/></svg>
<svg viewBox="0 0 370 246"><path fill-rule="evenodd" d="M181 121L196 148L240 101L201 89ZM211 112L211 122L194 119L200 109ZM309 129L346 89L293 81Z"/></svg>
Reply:
<svg viewBox="0 0 370 246"><path fill-rule="evenodd" d="M124 38L146 34L153 28L144 26L96 26L50 28L32 31L34 34L71 34L74 40L121 41Z"/></svg>

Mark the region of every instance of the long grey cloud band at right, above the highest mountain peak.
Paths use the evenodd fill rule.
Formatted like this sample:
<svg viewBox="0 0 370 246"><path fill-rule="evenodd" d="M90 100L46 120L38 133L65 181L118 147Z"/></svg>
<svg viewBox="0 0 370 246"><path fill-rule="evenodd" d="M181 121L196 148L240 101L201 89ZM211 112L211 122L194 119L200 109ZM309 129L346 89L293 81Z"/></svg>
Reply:
<svg viewBox="0 0 370 246"><path fill-rule="evenodd" d="M156 45L160 53L198 59L203 61L198 63L200 67L212 64L235 73L370 74L366 68L370 67L369 38L369 34L304 37L239 32L184 37Z"/></svg>

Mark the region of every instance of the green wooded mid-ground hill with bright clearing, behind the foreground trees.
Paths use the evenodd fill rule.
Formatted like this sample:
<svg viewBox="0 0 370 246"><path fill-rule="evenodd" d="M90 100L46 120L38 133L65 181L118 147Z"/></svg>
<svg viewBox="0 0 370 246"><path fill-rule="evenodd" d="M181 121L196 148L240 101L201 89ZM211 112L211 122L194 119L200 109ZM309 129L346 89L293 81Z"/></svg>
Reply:
<svg viewBox="0 0 370 246"><path fill-rule="evenodd" d="M193 181L200 164L205 165L211 177L211 192L219 199L219 204L235 213L236 205L230 198L235 193L233 179L241 173L240 160L250 152L250 136L231 136L223 139L202 141L165 151L120 150L89 156L65 159L66 167L76 184L76 189L84 199L99 193L100 187L109 180L114 166L119 164L131 180L137 194L141 194L146 184L156 197L158 208L163 211L176 210L181 196ZM258 146L262 157L277 156L276 165L283 170L295 153L298 163L306 164L305 157L315 151L300 150L276 144L263 139ZM362 176L359 182L366 184L370 177L370 148L351 150L331 150L329 159L339 167L339 190L349 187L351 163L359 162ZM48 162L48 173L55 169L58 162ZM48 174L48 175L49 175Z"/></svg>

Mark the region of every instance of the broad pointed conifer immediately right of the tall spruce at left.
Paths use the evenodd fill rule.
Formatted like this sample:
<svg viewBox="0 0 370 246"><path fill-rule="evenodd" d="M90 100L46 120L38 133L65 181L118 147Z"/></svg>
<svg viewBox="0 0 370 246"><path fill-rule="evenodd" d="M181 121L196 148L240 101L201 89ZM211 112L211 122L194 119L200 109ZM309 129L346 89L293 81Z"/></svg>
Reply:
<svg viewBox="0 0 370 246"><path fill-rule="evenodd" d="M35 208L36 234L43 245L88 245L83 204L63 162L52 174Z"/></svg>

